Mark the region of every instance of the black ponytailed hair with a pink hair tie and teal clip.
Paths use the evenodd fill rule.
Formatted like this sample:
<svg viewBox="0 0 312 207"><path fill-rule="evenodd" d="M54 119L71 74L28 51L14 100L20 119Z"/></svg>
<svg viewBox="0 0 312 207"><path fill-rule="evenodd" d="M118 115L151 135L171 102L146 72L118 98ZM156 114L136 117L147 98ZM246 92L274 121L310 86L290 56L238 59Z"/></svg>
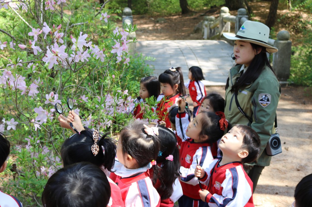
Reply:
<svg viewBox="0 0 312 207"><path fill-rule="evenodd" d="M152 127L155 127L155 125ZM160 148L156 162L158 165L161 164L161 169L158 174L153 173L152 176L153 180L158 180L155 188L158 191L161 200L164 200L169 198L173 193L172 185L174 181L180 177L181 165L179 159L179 149L177 147L177 137L166 127L158 125L157 128ZM168 160L169 155L173 156L172 161Z"/></svg>

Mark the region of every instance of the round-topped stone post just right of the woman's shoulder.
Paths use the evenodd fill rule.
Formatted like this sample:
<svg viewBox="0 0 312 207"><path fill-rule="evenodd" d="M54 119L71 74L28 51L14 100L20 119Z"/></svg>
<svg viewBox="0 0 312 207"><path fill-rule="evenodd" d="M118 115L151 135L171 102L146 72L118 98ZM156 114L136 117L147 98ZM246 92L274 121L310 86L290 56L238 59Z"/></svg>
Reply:
<svg viewBox="0 0 312 207"><path fill-rule="evenodd" d="M279 81L287 81L290 76L291 41L288 31L282 30L277 34L274 47L278 52L273 53L273 69Z"/></svg>

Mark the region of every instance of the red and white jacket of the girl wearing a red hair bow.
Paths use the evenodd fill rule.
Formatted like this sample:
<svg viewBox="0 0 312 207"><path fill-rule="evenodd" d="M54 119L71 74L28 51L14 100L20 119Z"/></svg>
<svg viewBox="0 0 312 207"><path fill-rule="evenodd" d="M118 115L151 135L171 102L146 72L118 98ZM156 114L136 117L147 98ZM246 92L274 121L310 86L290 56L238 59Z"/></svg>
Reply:
<svg viewBox="0 0 312 207"><path fill-rule="evenodd" d="M180 117L182 125L180 125ZM200 200L200 196L198 191L201 190L199 186L198 178L195 177L194 172L198 164L203 168L205 166L205 160L212 160L212 152L209 143L195 143L193 139L189 138L185 135L186 124L188 124L188 114L187 113L178 113L176 116L176 129L178 137L182 142L180 149L180 172L181 172L181 186L183 190L183 195L186 195L192 199ZM186 126L185 126L186 125ZM181 127L184 133L184 138L182 136ZM197 159L196 159L197 155ZM202 188L206 188L206 186L202 185Z"/></svg>

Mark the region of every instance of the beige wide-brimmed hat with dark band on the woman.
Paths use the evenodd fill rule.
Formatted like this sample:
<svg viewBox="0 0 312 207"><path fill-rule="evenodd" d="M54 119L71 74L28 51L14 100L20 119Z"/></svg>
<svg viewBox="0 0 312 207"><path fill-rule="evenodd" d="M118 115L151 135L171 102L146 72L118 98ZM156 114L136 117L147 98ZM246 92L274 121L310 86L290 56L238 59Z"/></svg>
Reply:
<svg viewBox="0 0 312 207"><path fill-rule="evenodd" d="M265 24L257 21L245 21L237 34L223 33L223 36L231 40L242 40L266 47L266 52L275 53L277 48L268 45L270 29Z"/></svg>

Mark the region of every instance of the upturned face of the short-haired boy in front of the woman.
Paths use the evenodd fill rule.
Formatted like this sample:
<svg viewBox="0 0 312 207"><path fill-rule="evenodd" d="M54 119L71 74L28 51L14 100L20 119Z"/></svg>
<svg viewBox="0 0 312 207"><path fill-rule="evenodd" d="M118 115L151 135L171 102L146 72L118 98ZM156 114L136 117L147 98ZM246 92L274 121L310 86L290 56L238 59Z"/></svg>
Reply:
<svg viewBox="0 0 312 207"><path fill-rule="evenodd" d="M233 127L221 138L219 148L223 154L227 156L237 155L242 149L243 135L237 127Z"/></svg>

